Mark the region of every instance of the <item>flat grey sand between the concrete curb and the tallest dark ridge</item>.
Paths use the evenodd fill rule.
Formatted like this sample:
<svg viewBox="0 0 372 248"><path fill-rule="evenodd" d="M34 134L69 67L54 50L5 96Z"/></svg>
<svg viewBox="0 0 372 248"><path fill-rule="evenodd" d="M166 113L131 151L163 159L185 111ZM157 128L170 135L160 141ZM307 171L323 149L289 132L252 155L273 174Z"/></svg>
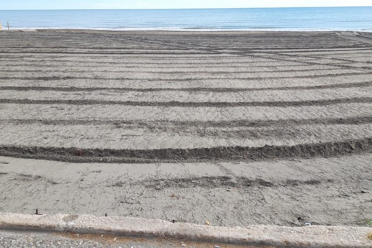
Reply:
<svg viewBox="0 0 372 248"><path fill-rule="evenodd" d="M159 218L214 226L366 225L372 155L217 163L0 157L0 212Z"/></svg>

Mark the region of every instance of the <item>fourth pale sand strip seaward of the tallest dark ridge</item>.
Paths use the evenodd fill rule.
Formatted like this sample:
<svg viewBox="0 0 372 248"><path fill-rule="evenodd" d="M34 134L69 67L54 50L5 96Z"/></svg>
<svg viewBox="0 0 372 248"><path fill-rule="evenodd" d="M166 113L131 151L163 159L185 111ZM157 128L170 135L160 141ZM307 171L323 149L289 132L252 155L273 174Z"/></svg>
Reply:
<svg viewBox="0 0 372 248"><path fill-rule="evenodd" d="M311 90L331 88L353 88L370 86L370 75L334 76L327 78L257 78L245 79L204 79L190 81L174 80L113 80L113 79L68 79L45 78L46 80L7 79L0 80L1 90L32 90L28 87L41 87L35 90L60 91L204 91L204 92L240 92L240 91L269 91L269 90ZM50 79L50 80L49 80ZM16 88L13 88L16 87ZM58 89L57 89L58 88ZM59 89L59 88L65 88ZM80 89L81 88L81 89Z"/></svg>

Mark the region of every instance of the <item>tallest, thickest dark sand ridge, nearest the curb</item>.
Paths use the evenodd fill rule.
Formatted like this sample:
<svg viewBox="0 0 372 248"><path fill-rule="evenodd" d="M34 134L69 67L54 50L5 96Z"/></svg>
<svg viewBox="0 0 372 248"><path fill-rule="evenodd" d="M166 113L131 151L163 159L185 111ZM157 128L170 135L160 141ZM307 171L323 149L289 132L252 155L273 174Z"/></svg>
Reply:
<svg viewBox="0 0 372 248"><path fill-rule="evenodd" d="M1 156L95 163L190 163L260 161L371 153L372 138L293 146L212 147L192 149L81 149L77 147L0 146Z"/></svg>

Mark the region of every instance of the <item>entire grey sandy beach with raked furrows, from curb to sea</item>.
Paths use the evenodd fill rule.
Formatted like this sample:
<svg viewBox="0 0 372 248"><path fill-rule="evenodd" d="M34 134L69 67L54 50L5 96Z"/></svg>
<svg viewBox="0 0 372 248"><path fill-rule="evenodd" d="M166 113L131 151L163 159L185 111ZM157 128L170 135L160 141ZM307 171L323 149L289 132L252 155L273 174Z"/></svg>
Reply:
<svg viewBox="0 0 372 248"><path fill-rule="evenodd" d="M0 212L372 219L372 33L39 30L0 42Z"/></svg>

